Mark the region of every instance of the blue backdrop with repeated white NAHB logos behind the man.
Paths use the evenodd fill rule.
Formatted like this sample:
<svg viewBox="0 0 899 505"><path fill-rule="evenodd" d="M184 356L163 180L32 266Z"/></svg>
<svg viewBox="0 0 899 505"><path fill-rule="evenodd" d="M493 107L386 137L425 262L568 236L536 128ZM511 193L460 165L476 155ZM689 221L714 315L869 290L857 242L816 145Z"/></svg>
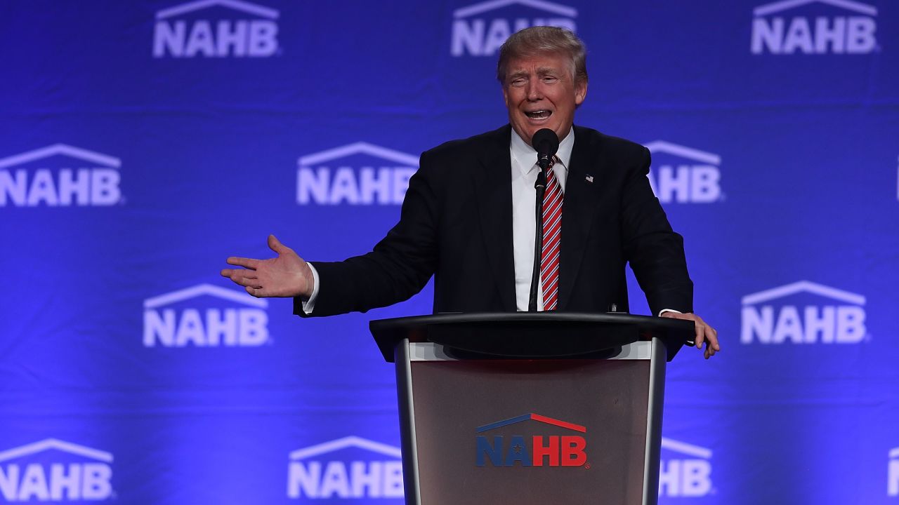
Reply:
<svg viewBox="0 0 899 505"><path fill-rule="evenodd" d="M431 289L300 321L218 270L366 252L538 23L589 49L576 122L653 151L723 339L669 368L663 503L899 503L890 0L0 4L0 502L401 502L367 322Z"/></svg>

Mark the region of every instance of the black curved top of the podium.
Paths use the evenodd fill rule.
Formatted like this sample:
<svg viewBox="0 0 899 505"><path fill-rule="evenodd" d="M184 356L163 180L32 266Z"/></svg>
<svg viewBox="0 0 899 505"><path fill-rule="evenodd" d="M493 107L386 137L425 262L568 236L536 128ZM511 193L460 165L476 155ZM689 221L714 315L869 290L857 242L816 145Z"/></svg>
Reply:
<svg viewBox="0 0 899 505"><path fill-rule="evenodd" d="M394 361L396 344L403 339L500 359L541 359L576 358L653 338L664 342L671 361L696 335L692 321L572 312L415 315L374 320L369 330L387 362Z"/></svg>

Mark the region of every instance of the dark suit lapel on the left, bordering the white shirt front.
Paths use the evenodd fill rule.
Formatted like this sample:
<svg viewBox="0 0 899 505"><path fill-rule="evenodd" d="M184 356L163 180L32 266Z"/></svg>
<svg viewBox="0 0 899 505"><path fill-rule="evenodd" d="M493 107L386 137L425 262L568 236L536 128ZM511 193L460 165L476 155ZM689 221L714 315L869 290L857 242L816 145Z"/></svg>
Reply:
<svg viewBox="0 0 899 505"><path fill-rule="evenodd" d="M515 310L515 266L512 253L512 128L496 130L477 155L473 174L481 235L503 310Z"/></svg>

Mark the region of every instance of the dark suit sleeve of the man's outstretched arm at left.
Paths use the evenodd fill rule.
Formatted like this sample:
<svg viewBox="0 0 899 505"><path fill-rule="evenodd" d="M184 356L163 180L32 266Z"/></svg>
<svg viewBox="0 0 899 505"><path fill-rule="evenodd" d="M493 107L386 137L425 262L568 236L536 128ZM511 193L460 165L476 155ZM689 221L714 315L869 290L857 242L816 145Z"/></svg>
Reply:
<svg viewBox="0 0 899 505"><path fill-rule="evenodd" d="M315 261L320 280L311 315L366 312L401 302L424 288L437 265L439 197L427 153L409 180L399 222L370 253L344 261ZM294 314L307 316L294 299Z"/></svg>

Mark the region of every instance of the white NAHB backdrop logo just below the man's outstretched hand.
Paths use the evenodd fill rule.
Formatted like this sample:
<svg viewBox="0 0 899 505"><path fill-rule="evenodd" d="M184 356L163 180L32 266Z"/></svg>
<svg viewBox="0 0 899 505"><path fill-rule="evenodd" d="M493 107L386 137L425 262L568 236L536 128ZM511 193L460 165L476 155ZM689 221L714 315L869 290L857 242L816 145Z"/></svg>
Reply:
<svg viewBox="0 0 899 505"><path fill-rule="evenodd" d="M198 284L144 300L146 347L257 347L269 341L268 301Z"/></svg>

